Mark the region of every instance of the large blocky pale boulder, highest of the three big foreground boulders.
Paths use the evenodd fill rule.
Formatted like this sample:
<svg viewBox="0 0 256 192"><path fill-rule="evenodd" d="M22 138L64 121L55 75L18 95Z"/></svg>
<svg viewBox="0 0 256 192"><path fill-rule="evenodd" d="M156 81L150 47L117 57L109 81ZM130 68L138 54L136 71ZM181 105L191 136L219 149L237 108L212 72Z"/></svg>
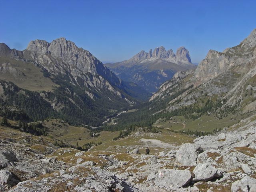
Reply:
<svg viewBox="0 0 256 192"><path fill-rule="evenodd" d="M202 153L202 147L198 144L182 144L176 152L176 162L183 166L195 166L198 154Z"/></svg>

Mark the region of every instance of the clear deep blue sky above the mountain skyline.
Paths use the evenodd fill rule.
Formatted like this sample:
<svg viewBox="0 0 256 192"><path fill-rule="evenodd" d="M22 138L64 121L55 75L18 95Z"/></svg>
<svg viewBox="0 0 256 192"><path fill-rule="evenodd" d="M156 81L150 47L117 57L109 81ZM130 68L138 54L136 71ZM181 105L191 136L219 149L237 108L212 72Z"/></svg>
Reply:
<svg viewBox="0 0 256 192"><path fill-rule="evenodd" d="M0 0L0 42L65 37L103 62L185 46L192 62L239 44L256 28L255 0Z"/></svg>

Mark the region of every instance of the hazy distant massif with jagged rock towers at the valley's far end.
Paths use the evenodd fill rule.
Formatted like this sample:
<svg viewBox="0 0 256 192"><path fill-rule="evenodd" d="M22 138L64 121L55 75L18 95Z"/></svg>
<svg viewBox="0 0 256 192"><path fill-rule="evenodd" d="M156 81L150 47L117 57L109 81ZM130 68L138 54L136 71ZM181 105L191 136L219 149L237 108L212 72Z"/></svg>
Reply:
<svg viewBox="0 0 256 192"><path fill-rule="evenodd" d="M163 46L142 50L126 61L114 64L105 64L120 79L135 82L149 92L156 92L159 86L172 78L177 71L188 70L196 66L191 63L188 50L178 48L176 54L173 50L166 51Z"/></svg>

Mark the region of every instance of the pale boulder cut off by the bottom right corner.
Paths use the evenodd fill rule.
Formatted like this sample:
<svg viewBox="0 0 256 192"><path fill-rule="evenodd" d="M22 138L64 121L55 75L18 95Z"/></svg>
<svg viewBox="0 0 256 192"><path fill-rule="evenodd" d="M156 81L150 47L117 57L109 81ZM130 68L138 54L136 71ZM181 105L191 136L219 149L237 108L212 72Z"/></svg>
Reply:
<svg viewBox="0 0 256 192"><path fill-rule="evenodd" d="M255 190L255 188L253 188L255 184L256 184L256 179L250 178L249 176L246 175L241 180L238 180L232 183L231 191L232 192L238 192L238 191L249 192L250 190L250 192L252 192L252 190Z"/></svg>

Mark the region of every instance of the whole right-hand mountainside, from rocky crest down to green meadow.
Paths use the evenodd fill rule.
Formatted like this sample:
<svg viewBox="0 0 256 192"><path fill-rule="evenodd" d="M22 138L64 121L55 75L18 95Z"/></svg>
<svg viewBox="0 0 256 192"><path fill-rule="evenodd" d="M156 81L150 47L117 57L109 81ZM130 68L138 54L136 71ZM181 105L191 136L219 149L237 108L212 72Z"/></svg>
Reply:
<svg viewBox="0 0 256 192"><path fill-rule="evenodd" d="M256 29L237 46L223 52L209 50L195 70L177 72L148 104L137 108L132 116L122 114L120 124L161 127L161 121L166 121L164 126L171 128L176 126L172 118L182 116L184 127L177 130L204 132L252 115L256 110Z"/></svg>

